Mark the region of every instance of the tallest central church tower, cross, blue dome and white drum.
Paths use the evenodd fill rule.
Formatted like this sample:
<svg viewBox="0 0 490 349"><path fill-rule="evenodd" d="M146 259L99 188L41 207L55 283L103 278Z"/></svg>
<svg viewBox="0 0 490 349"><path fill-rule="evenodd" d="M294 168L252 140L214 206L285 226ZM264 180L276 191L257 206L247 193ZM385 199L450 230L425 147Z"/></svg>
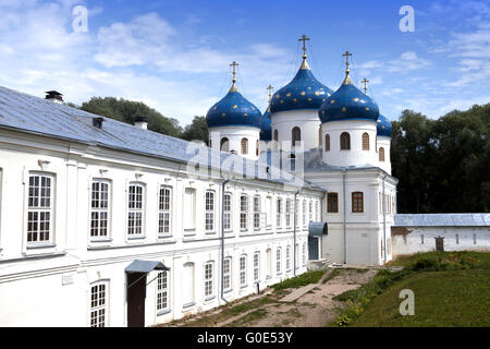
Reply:
<svg viewBox="0 0 490 349"><path fill-rule="evenodd" d="M280 88L270 103L270 119L273 141L290 141L292 146L302 141L305 149L319 146L318 108L333 92L321 84L311 73L306 60L305 35L303 62L294 79Z"/></svg>

